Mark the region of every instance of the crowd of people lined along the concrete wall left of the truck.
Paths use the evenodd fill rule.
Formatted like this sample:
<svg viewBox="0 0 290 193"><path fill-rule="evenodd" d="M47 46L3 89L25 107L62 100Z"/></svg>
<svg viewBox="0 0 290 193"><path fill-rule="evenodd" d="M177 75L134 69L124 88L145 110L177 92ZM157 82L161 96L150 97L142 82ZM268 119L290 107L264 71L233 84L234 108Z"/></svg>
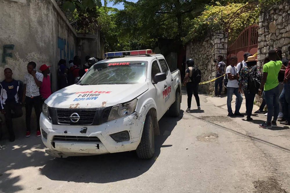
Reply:
<svg viewBox="0 0 290 193"><path fill-rule="evenodd" d="M86 56L86 63L81 65L81 59L75 56L73 60L68 62L61 59L58 63L57 71L57 89L63 89L69 85L77 83L86 71L97 61L99 58L91 58ZM12 126L12 119L21 117L23 115L22 105L25 105L26 111L26 137L31 135L31 113L34 107L37 130L36 136L40 137L39 118L41 114L41 107L44 101L52 94L50 68L43 64L40 66L38 72L36 70L36 63L29 62L27 64L27 73L24 76L24 82L13 79L12 69L4 69L5 80L0 83L0 110L5 117L6 126L9 134L9 141L15 140L15 134ZM0 139L2 137L2 130L0 129Z"/></svg>

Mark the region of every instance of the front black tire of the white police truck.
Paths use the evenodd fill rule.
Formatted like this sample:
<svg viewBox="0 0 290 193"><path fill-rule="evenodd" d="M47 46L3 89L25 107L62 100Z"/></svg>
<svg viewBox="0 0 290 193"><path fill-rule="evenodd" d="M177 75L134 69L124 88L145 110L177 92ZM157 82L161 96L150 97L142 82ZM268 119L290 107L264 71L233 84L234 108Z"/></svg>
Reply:
<svg viewBox="0 0 290 193"><path fill-rule="evenodd" d="M154 152L155 144L153 120L151 115L148 113L145 119L141 141L136 149L136 153L140 159L151 159L154 156Z"/></svg>

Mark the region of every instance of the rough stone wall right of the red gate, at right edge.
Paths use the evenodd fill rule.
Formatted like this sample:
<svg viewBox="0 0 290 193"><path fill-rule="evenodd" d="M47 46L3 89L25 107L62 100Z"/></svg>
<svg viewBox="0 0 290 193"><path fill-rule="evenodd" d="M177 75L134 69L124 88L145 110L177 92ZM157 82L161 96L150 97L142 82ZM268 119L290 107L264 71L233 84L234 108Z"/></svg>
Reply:
<svg viewBox="0 0 290 193"><path fill-rule="evenodd" d="M264 10L259 16L258 38L258 65L269 50L280 48L283 57L290 59L288 47L290 46L290 1L281 1L271 8ZM262 99L256 96L256 104L260 105Z"/></svg>

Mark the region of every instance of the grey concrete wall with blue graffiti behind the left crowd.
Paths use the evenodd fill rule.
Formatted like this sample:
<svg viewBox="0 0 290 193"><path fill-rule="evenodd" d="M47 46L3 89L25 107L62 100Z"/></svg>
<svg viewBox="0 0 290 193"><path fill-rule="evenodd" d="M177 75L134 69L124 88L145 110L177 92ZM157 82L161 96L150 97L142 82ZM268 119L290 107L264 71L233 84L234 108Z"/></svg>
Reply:
<svg viewBox="0 0 290 193"><path fill-rule="evenodd" d="M84 58L89 50L102 54L99 36L77 34L54 0L0 0L0 18L0 80L7 67L14 79L23 80L27 63L34 61L37 69L42 64L52 66L55 91L60 59L68 62L78 54Z"/></svg>

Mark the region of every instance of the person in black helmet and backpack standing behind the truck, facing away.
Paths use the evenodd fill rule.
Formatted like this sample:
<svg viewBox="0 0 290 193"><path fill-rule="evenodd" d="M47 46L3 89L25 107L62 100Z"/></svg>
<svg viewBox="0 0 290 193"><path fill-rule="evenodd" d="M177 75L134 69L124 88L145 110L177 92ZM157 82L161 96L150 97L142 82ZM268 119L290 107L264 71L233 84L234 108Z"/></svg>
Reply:
<svg viewBox="0 0 290 193"><path fill-rule="evenodd" d="M193 59L187 60L186 64L188 66L188 68L185 71L185 78L184 78L184 84L186 85L186 91L187 91L187 109L186 109L186 112L190 112L192 93L195 97L197 109L198 110L201 109L200 108L200 99L198 96L198 85L199 85L200 80L201 80L201 72L195 66Z"/></svg>

